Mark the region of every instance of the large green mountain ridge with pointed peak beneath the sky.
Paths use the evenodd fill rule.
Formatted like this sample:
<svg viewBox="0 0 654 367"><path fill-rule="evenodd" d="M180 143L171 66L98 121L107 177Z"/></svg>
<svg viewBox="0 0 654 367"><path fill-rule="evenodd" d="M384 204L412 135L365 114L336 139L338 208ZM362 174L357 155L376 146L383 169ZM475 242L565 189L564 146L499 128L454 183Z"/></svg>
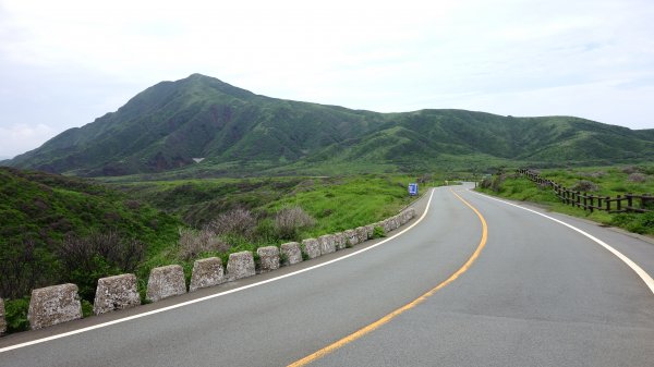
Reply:
<svg viewBox="0 0 654 367"><path fill-rule="evenodd" d="M194 158L205 158L197 163ZM331 174L654 159L654 130L463 110L377 113L258 96L193 74L5 164L86 176Z"/></svg>

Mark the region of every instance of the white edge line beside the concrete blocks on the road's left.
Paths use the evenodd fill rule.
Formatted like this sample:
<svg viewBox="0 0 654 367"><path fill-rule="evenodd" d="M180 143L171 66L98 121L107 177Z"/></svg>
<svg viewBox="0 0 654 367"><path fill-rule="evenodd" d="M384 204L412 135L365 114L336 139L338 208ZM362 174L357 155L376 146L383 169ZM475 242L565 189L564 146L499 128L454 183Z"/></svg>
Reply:
<svg viewBox="0 0 654 367"><path fill-rule="evenodd" d="M52 337L41 338L41 339L33 340L33 341L29 341L29 342L21 343L21 344L5 346L3 348L0 348L0 353L9 352L9 351L12 351L12 350L17 350L17 348L29 346L29 345L34 345L34 344L40 344L40 343L45 343L45 342L48 342L48 341L51 341L51 340L61 339L61 338L65 338L65 337L71 337L71 335L80 334L80 333L83 333L83 332L86 332L86 331L90 331L90 330L95 330L95 329L100 329L100 328L106 328L106 327L109 327L109 326L112 326L112 325L116 325L116 323L121 323L121 322L125 322L125 321L138 319L138 318L142 318L142 317L146 317L146 316L150 316L150 315L164 313L164 311L167 311L167 310L171 310L171 309L175 309L175 308L189 306L189 305L192 305L192 304L195 304L195 303L199 303L199 302L203 302L203 301L208 301L208 299L211 299L211 298L220 297L220 296L228 295L228 294L231 294L231 293L237 293L237 292L244 291L244 290L247 290L247 289L251 289L251 288L255 288L255 286L258 286L258 285L264 285L264 284L267 284L267 283L271 283L271 282L284 279L284 278L298 276L298 274L301 274L301 273L303 273L305 271L314 270L314 269L322 268L322 267L328 266L330 264L334 264L334 262L337 262L337 261L340 261L340 260L344 260L344 259L347 259L349 257L352 257L354 255L359 255L361 253L365 253L365 252L367 252L370 249L373 249L373 248L375 248L377 246L380 246L380 245L389 242L390 240L393 240L395 237L403 234L404 232L411 230L413 227L415 227L417 223L420 223L427 216L427 211L429 211L429 206L432 204L432 197L433 196L434 196L434 188L432 188L432 193L429 194L429 200L427 201L427 207L425 208L425 211L423 212L423 215L415 222L413 222L413 224L409 225L408 228L405 228L401 232L398 232L398 233L393 234L392 236L390 236L390 237L388 237L386 240L379 241L378 243L376 243L376 244L374 244L372 246L368 246L366 248L362 248L362 249L360 249L358 252L354 252L352 254L348 254L348 255L341 256L339 258L336 258L334 260L329 260L329 261L326 261L326 262L314 265L313 267L308 267L308 268L305 268L305 269L302 269L302 270L293 271L293 272L290 272L288 274L279 276L279 277L276 277L276 278L271 278L271 279L264 280L264 281L261 281L261 282L257 282L257 283L244 285L244 286L237 288L237 289L233 289L233 290L229 290L229 291L226 291L226 292L211 294L211 295L208 295L208 296L205 296L205 297L201 297L201 298L196 298L196 299L191 299L191 301L182 302L182 303L179 303L179 304L175 304L175 305L171 305L171 306L167 306L167 307L162 307L162 308L158 308L158 309L153 309L152 311L147 311L147 313L138 314L138 315L133 315L133 316L128 316L125 318L121 318L121 319L118 319L118 320L112 320L112 321L108 321L108 322L104 322L104 323L98 323L98 325L94 325L92 327L86 327L86 328L82 328L82 329L77 329L77 330L64 332L64 333L52 335Z"/></svg>

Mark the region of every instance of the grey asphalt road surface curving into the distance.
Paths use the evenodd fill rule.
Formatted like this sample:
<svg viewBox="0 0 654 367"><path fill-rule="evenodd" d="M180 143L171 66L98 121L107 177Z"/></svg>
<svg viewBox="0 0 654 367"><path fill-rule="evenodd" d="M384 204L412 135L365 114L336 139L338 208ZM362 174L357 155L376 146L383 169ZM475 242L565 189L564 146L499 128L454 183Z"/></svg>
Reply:
<svg viewBox="0 0 654 367"><path fill-rule="evenodd" d="M177 299L5 337L0 351L232 292L2 352L0 366L286 366L433 290L480 245L485 247L479 257L451 283L311 366L654 366L654 294L631 268L560 223L463 187L453 191L485 218L487 241L477 215L450 188L437 188L422 221L376 247L356 246ZM548 215L654 274L652 242ZM368 249L326 264L362 248ZM292 274L318 264L325 265ZM280 276L286 278L274 280ZM254 285L262 280L268 282ZM240 286L250 288L235 291Z"/></svg>

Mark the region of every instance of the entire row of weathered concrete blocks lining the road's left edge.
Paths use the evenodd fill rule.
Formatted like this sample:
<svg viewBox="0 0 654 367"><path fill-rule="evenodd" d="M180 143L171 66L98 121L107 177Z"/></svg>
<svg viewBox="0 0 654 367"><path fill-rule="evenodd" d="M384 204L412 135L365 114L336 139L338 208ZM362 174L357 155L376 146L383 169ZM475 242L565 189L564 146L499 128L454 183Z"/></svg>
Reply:
<svg viewBox="0 0 654 367"><path fill-rule="evenodd" d="M301 262L303 253L307 258L313 259L354 246L373 238L376 227L383 228L384 232L388 233L405 224L414 216L415 210L409 208L384 221L336 234L326 234L318 238L303 240L301 244L291 242L282 244L280 248L276 246L259 247L256 250L259 258L258 272L268 272L278 269L280 266ZM256 268L251 252L231 254L227 262L227 273L222 269L220 258L201 259L193 264L189 291L194 292L254 274L256 274ZM186 293L186 283L181 266L170 265L150 271L146 293L148 301L157 302L184 293ZM95 315L138 305L141 305L141 297L136 286L136 276L122 274L98 280L93 306ZM82 304L77 294L77 285L69 283L33 290L27 318L32 329L41 329L82 318ZM0 334L5 330L4 303L0 298Z"/></svg>

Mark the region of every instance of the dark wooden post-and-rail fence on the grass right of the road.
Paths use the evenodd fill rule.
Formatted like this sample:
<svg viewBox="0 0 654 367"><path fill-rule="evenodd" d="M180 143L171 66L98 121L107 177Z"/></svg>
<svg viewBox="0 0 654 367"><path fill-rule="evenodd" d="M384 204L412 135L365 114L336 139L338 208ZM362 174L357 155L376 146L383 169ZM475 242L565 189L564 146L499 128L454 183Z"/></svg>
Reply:
<svg viewBox="0 0 654 367"><path fill-rule="evenodd" d="M649 212L654 211L654 196L652 194L633 195L631 193L625 195L617 195L616 197L589 195L588 193L581 193L580 191L573 191L567 188L552 180L542 178L537 173L534 173L528 169L520 169L517 173L525 176L532 182L540 185L552 187L555 195L561 199L562 203L583 208L584 210L605 210L608 212Z"/></svg>

